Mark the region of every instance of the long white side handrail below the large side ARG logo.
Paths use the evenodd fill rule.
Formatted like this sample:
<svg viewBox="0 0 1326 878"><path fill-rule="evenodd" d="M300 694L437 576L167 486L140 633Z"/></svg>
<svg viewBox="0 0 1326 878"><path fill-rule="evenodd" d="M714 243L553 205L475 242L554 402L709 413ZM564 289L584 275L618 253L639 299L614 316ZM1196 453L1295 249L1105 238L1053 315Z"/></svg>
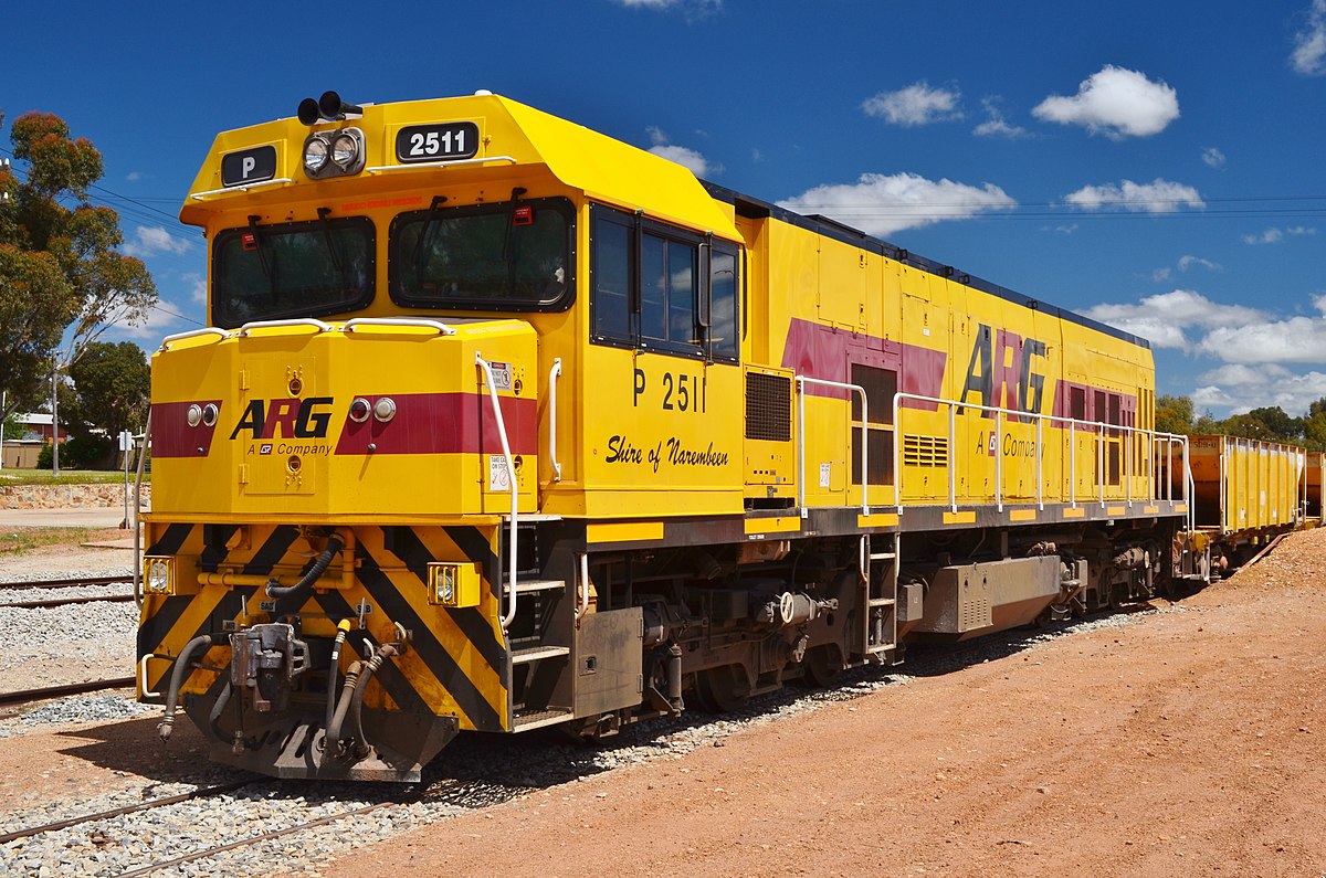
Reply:
<svg viewBox="0 0 1326 878"><path fill-rule="evenodd" d="M1123 466L1120 467L1120 470L1122 470L1122 473L1120 473L1122 479L1120 480L1123 481L1123 487L1124 487L1123 500L1128 505L1132 505L1132 503L1135 501L1135 499L1132 496L1132 480L1134 480L1134 475L1135 475L1132 472L1132 459L1134 459L1134 455L1131 452L1131 448L1135 444L1135 436L1147 436L1147 438L1151 439L1150 454L1147 455L1147 460L1150 463L1150 467L1147 468L1147 495L1148 495L1147 500L1159 499L1159 497L1156 497L1158 492L1156 492L1156 484L1155 484L1156 443L1166 442L1166 443L1170 443L1170 446L1171 446L1171 448L1170 448L1171 466L1167 470L1167 473L1172 472L1172 444L1180 444L1183 447L1183 460L1184 460L1184 483L1183 483L1184 496L1183 496L1183 500L1189 507L1188 508L1188 521L1189 521L1189 528L1188 529L1189 531L1192 529L1192 508L1191 508L1192 507L1192 504L1191 504L1191 497L1192 497L1192 472L1191 472L1191 468L1188 467L1188 454L1187 454L1187 450L1188 450L1188 438L1187 436L1179 436L1179 435L1167 434L1167 432L1156 432L1154 430L1143 430L1140 427L1131 427L1131 426L1124 426L1124 424L1111 424L1111 423L1103 423L1103 422L1098 422L1098 420L1078 420L1077 418L1065 418L1062 415L1046 415L1046 414L1042 414L1042 412L1038 412L1038 411L1020 411L1020 410L1016 410L1016 408L1004 408L1004 407L1000 407L1000 406L981 406L981 405L969 403L969 402L960 402L957 399L944 399L941 397L927 397L927 395L923 395L923 394L910 394L910 393L898 393L898 394L894 394L894 419L892 419L894 430L895 430L895 440L894 440L894 473L895 473L895 476L894 476L894 481L895 481L895 492L896 492L895 505L896 505L898 515L902 515L903 513L903 508L904 508L904 503L903 503L903 473L904 473L904 470L903 470L903 466L902 466L903 443L896 439L896 436L903 435L903 431L902 431L902 408L903 408L902 403L903 403L903 401L914 401L914 402L920 402L920 403L926 403L926 405L934 405L936 407L937 406L947 406L947 408L948 408L948 448L949 448L949 454L948 454L948 464L947 464L945 470L947 470L947 473L948 473L948 505L949 505L949 509L953 511L953 512L957 511L957 505L959 505L959 503L957 503L957 477L959 477L957 459L959 459L960 455L955 455L952 452L952 450L957 447L957 411L959 411L959 408L973 408L976 411L989 412L989 414L994 415L994 432L993 432L993 436L998 436L998 435L1001 435L1004 432L1004 418L1005 416L1016 418L1017 423L1024 423L1025 419L1032 419L1032 420L1036 422L1036 460L1034 460L1034 466L1036 466L1036 505L1037 505L1038 509L1044 509L1045 508L1045 423L1046 422L1049 422L1052 427L1054 427L1055 424L1058 424L1061 430L1063 427L1067 427L1067 431L1069 431L1069 439L1067 439L1067 448L1069 448L1069 454L1067 454L1067 458L1069 458L1069 504L1074 509L1078 507L1078 496L1077 496L1077 451L1075 451L1075 448L1077 448L1077 430L1078 430L1079 426L1085 427L1089 432L1095 434L1095 442L1097 442L1097 455L1095 455L1097 456L1097 473L1095 473L1097 477L1095 477L1095 483L1097 483L1097 487L1098 487L1098 495L1097 495L1097 497L1095 497L1094 501L1099 503L1099 505L1102 508L1106 507L1107 503L1109 503L1109 499L1106 497L1106 492L1105 492L1106 481L1107 481L1106 472L1105 472L1105 466L1106 466L1106 454L1105 454L1106 444L1105 443L1106 443L1106 436L1107 435L1127 436L1128 440L1130 440L1128 442L1128 448L1130 448L1128 454L1122 454L1120 452L1122 463L1123 463ZM862 415L865 416L865 411L862 411ZM862 431L862 434L865 434L865 430ZM994 440L997 442L997 439L994 439ZM804 480L804 471L802 471L802 480ZM1166 485L1167 499L1170 499L1170 500L1172 500L1172 489L1171 488L1172 488L1171 484ZM1138 497L1138 500L1140 500L1140 497ZM994 503L996 503L997 509L1000 512L1002 512L1004 511L1004 455L1002 454L996 454L994 455Z"/></svg>

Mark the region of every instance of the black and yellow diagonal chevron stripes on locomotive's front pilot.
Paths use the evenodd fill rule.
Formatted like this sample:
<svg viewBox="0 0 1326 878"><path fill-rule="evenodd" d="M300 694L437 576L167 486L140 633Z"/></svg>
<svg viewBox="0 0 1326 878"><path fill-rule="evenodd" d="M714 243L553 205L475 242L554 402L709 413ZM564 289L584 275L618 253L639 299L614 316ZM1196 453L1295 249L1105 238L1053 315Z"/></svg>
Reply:
<svg viewBox="0 0 1326 878"><path fill-rule="evenodd" d="M219 568L267 577L278 566L298 570L309 564L309 545L292 525L154 524L149 556L171 556L183 577ZM276 614L296 613L305 637L333 637L339 619L359 619L350 631L343 663L367 658L369 646L396 639L395 625L410 633L410 650L386 663L365 695L367 710L408 711L455 718L461 729L511 729L511 664L500 621L496 577L496 528L473 525L355 527L354 581L345 588L338 562L324 576L304 606L277 605ZM233 548L228 548L233 546ZM484 574L477 607L448 609L428 603L430 561L468 561ZM186 590L186 589L182 589ZM223 623L241 627L272 621L263 609L268 598L257 586L204 585L196 594L149 596L138 630L138 657L178 657L188 641L212 634L224 643ZM215 696L229 666L228 645L213 646L199 662L183 691ZM149 691L162 691L172 660L151 660ZM343 670L343 668L342 668Z"/></svg>

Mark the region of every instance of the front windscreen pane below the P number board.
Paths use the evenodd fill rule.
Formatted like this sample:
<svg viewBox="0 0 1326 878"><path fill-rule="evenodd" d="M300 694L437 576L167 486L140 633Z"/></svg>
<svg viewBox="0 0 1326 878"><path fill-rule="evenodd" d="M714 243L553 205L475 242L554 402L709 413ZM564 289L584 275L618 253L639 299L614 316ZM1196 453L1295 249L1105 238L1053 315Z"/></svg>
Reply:
<svg viewBox="0 0 1326 878"><path fill-rule="evenodd" d="M324 317L373 301L374 229L365 216L228 228L212 244L212 322Z"/></svg>

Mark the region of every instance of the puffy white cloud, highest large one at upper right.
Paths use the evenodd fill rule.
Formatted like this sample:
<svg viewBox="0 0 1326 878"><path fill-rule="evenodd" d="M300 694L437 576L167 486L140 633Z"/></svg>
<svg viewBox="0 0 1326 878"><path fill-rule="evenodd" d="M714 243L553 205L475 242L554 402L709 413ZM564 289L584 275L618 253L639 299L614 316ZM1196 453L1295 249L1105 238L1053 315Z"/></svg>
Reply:
<svg viewBox="0 0 1326 878"><path fill-rule="evenodd" d="M1179 94L1136 70L1106 65L1083 80L1075 95L1052 94L1032 115L1044 122L1081 125L1113 139L1150 137L1179 118Z"/></svg>

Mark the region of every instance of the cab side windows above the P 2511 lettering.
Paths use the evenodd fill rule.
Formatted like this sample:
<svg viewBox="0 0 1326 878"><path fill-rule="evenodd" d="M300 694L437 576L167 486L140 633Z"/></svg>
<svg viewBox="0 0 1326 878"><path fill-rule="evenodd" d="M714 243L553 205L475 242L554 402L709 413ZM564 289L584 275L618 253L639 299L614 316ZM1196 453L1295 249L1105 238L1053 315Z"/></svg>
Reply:
<svg viewBox="0 0 1326 878"><path fill-rule="evenodd" d="M736 362L736 245L597 204L590 216L593 340Z"/></svg>

